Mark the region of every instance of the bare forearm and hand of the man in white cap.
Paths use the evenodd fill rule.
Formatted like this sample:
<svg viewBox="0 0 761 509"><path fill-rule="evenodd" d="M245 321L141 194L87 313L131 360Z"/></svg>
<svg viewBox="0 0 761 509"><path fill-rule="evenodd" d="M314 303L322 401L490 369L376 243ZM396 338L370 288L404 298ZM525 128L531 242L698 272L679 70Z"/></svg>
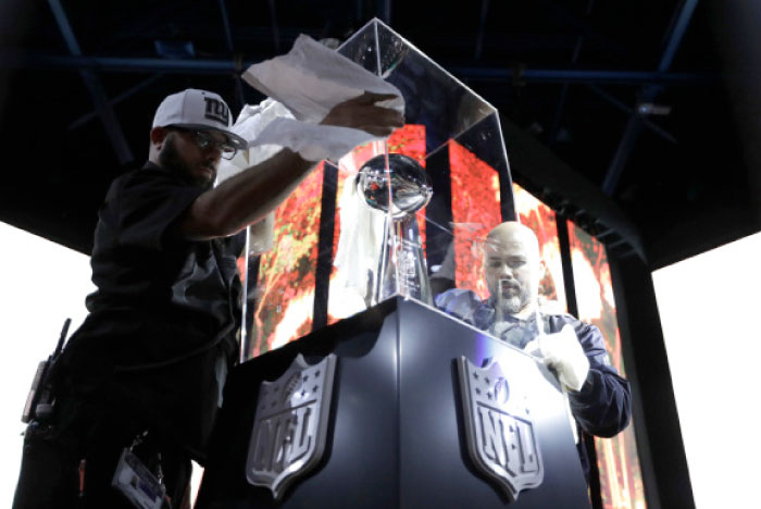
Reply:
<svg viewBox="0 0 761 509"><path fill-rule="evenodd" d="M392 97L365 92L337 104L322 124L388 136L404 120L400 113L375 102ZM316 161L305 161L291 150L280 150L199 196L180 220L182 234L191 240L203 240L240 232L275 210L315 164Z"/></svg>

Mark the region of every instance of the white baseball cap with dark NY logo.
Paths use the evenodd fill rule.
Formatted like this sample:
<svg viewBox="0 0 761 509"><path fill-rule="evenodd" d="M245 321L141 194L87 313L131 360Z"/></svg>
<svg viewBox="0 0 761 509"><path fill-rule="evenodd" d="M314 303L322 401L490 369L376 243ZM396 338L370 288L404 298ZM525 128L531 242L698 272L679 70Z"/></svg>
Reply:
<svg viewBox="0 0 761 509"><path fill-rule="evenodd" d="M216 131L227 136L230 145L239 150L247 141L230 131L233 117L227 103L217 94L188 88L166 96L153 117L153 127L185 127L188 129Z"/></svg>

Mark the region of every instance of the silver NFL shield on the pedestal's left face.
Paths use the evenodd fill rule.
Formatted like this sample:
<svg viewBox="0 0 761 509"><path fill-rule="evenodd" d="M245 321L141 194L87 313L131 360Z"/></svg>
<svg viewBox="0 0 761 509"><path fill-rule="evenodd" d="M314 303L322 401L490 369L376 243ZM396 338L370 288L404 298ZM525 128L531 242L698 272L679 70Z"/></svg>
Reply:
<svg viewBox="0 0 761 509"><path fill-rule="evenodd" d="M279 378L259 388L246 474L275 499L323 456L335 371L333 353L314 365L299 353Z"/></svg>

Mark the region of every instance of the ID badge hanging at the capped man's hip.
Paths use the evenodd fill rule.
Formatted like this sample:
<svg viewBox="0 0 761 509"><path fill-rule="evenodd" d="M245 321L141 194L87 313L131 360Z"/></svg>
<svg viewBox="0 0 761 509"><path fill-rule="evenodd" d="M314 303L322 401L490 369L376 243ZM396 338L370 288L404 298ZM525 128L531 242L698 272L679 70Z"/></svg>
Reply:
<svg viewBox="0 0 761 509"><path fill-rule="evenodd" d="M111 485L140 509L161 509L166 489L128 448L122 451Z"/></svg>

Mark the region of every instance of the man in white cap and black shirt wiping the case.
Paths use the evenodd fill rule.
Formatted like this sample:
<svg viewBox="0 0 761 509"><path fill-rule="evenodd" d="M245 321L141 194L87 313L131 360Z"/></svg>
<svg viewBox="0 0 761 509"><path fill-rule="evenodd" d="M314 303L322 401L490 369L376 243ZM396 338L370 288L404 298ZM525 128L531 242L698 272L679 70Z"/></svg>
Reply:
<svg viewBox="0 0 761 509"><path fill-rule="evenodd" d="M366 92L322 124L387 136L403 124ZM90 311L51 376L52 417L27 429L14 508L188 507L190 458L204 448L235 361L241 233L316 161L284 149L213 187L247 142L216 94L169 96L149 161L114 181L99 212Z"/></svg>

